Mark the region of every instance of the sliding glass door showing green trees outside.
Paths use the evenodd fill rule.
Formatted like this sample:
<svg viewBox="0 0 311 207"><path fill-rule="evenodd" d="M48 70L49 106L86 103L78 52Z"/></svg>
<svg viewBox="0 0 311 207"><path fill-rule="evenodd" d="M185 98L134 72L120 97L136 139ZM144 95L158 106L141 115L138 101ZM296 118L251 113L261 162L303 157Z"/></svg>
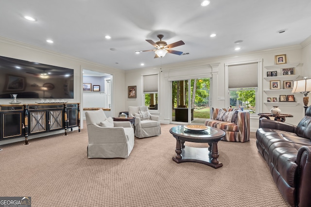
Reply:
<svg viewBox="0 0 311 207"><path fill-rule="evenodd" d="M172 122L204 124L209 118L209 78L172 81Z"/></svg>

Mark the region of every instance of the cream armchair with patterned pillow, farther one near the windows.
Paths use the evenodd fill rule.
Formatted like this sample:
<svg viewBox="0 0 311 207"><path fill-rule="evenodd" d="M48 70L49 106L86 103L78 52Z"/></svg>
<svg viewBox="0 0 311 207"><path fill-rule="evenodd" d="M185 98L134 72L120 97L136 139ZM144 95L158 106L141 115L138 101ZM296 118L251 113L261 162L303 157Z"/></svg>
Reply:
<svg viewBox="0 0 311 207"><path fill-rule="evenodd" d="M142 111L144 109L145 111ZM147 107L128 107L129 117L135 117L135 136L137 138L153 137L161 134L159 117L151 115Z"/></svg>

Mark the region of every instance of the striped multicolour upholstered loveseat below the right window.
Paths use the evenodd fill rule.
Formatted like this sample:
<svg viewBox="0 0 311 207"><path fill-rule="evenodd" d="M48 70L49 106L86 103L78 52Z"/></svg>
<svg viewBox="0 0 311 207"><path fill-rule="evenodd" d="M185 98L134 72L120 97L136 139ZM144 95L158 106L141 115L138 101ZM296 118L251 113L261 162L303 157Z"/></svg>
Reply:
<svg viewBox="0 0 311 207"><path fill-rule="evenodd" d="M211 119L205 121L205 126L220 128L225 131L223 141L249 141L249 111L241 108L217 109L211 108Z"/></svg>

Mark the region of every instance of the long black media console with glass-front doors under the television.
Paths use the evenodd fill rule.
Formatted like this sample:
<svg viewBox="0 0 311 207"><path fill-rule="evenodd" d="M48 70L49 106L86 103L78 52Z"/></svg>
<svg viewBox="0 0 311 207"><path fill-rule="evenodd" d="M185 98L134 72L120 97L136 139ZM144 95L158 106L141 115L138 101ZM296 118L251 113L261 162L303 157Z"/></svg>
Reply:
<svg viewBox="0 0 311 207"><path fill-rule="evenodd" d="M80 103L0 105L0 141L80 128Z"/></svg>

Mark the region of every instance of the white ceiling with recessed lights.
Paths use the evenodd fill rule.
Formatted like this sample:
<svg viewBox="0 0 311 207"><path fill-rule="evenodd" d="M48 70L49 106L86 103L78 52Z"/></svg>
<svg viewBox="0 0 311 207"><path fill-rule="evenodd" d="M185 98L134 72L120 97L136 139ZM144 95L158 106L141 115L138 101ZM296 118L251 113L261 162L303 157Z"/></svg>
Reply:
<svg viewBox="0 0 311 207"><path fill-rule="evenodd" d="M201 1L0 0L0 36L131 70L291 46L311 35L311 0L210 0L207 7ZM168 44L183 40L173 49L189 55L135 53L154 49L145 39L156 42L159 33Z"/></svg>

